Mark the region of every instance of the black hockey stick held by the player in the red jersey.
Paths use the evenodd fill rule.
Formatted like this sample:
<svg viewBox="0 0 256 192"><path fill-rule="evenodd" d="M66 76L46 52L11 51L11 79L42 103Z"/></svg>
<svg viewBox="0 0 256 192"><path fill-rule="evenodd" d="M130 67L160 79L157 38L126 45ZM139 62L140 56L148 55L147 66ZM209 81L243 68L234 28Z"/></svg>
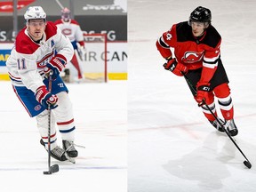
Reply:
<svg viewBox="0 0 256 192"><path fill-rule="evenodd" d="M192 92L195 93L196 95L196 90L193 87L193 84L190 83L188 76L186 76L186 74L184 72L181 72L182 75L185 77L188 86L190 87L190 89L192 90ZM241 148L238 147L238 145L236 144L236 141L228 134L228 131L225 129L225 127L223 126L223 124L220 123L220 120L217 118L217 116L215 116L215 114L212 112L212 109L206 104L205 100L203 100L203 105L211 112L212 116L215 118L215 120L217 120L218 124L221 126L221 128L226 132L226 134L228 135L228 138L235 144L236 148L240 151L240 153L244 156L244 158L246 159L246 161L244 161L244 165L251 169L252 164L250 163L250 161L248 160L248 158L244 155L243 151L241 150ZM199 105L198 105L199 106ZM202 105L200 105L199 107L202 107Z"/></svg>

